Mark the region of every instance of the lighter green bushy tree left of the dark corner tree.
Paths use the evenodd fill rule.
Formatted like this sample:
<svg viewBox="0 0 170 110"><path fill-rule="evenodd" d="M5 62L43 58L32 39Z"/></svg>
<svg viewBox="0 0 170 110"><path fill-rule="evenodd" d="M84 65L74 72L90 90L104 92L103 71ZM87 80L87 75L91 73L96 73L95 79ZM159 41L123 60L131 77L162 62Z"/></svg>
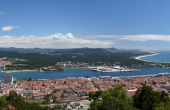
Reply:
<svg viewBox="0 0 170 110"><path fill-rule="evenodd" d="M127 97L122 86L117 85L102 93L102 100L95 100L91 110L134 110L133 101Z"/></svg>

